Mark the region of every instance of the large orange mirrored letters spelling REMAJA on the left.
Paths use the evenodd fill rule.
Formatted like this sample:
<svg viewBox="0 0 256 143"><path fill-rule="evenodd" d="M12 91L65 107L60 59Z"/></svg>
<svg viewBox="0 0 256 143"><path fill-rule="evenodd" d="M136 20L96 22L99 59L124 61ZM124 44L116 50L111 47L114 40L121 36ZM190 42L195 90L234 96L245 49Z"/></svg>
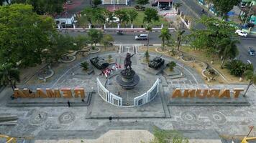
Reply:
<svg viewBox="0 0 256 143"><path fill-rule="evenodd" d="M83 88L76 89L37 89L36 92L30 92L29 89L14 89L15 98L85 98L85 90Z"/></svg>

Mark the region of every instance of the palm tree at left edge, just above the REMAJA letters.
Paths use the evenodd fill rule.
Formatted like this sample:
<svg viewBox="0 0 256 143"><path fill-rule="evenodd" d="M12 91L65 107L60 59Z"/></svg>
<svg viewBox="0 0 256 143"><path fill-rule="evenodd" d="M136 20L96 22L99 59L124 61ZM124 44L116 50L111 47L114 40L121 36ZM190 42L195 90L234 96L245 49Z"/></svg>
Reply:
<svg viewBox="0 0 256 143"><path fill-rule="evenodd" d="M19 82L19 70L14 68L13 64L5 63L0 66L1 85L11 85L12 90L16 88L16 82Z"/></svg>

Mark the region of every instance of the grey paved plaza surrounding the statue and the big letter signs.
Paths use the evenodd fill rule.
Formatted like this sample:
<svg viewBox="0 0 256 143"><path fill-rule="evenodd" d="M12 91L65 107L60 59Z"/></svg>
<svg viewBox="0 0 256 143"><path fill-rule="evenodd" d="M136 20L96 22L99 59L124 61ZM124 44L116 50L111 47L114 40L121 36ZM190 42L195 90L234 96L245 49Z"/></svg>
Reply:
<svg viewBox="0 0 256 143"><path fill-rule="evenodd" d="M145 70L147 65L141 62L144 54L138 53L132 57L132 67L139 74L141 81L137 85L138 87L127 92L117 87L114 77L111 79L111 84L107 84L106 78L99 75L101 71L91 66L94 74L87 74L80 66L82 61L88 61L94 56L108 59L109 54L111 54L113 62L120 62L122 68L124 68L125 53L119 54L109 51L101 54L90 54L71 63L52 67L55 74L50 79L47 79L47 82L39 82L35 78L31 78L27 83L17 85L19 88L27 87L33 90L38 87L42 89L83 87L86 93L92 92L90 104L84 106L72 106L72 102L81 104L81 99L71 101L71 107L68 107L68 104L64 104L68 102L68 99L53 101L52 104L47 106L42 105L45 99L32 99L32 102L41 103L39 104L40 106L26 107L26 104L24 106L19 104L19 106L15 107L12 104L9 107L11 101L9 97L12 94L12 89L5 88L0 93L0 115L14 114L19 119L16 125L1 125L1 134L32 136L35 137L38 143L45 142L44 139L63 139L60 142L65 142L65 139L75 139L74 142L88 139L88 142L93 142L90 139L109 139L111 135L106 135L105 133L111 130L121 130L118 133L119 136L123 135L122 130L137 130L137 132L140 132L138 134L141 134L140 139L144 142L149 142L148 139L152 139L150 132L152 133L154 127L159 127L160 129L179 130L188 139L214 140L219 139L219 135L223 134L246 135L250 130L250 126L256 126L256 88L253 86L250 88L247 97L245 97L250 106L168 106L168 97L175 88L246 89L247 85L218 84L209 86L205 84L204 79L195 69L184 66L180 61L176 61L177 66L175 68L178 71L183 71L184 77L173 79L163 73L150 74ZM155 56L157 55L150 54L150 59ZM167 56L163 56L163 59L165 59L165 63L174 60ZM157 94L157 97L152 102L141 107L116 107L104 102L99 97L96 85L97 77L102 83L106 83L106 88L111 92L120 92L120 96L124 98L125 102L131 102L132 98L146 92L157 78L161 81L160 94ZM58 102L62 102L62 104L58 106ZM42 117L38 117L39 114ZM113 117L112 122L109 122L110 116ZM142 131L145 133L142 134ZM112 132L111 134L114 133ZM131 137L131 134L127 133L127 137ZM107 139L106 142L109 142ZM120 139L125 140L125 137L120 137ZM127 139L127 142L137 142L133 139L136 138ZM68 140L66 141L69 142ZM52 142L57 141L53 140ZM116 140L115 142L118 141Z"/></svg>

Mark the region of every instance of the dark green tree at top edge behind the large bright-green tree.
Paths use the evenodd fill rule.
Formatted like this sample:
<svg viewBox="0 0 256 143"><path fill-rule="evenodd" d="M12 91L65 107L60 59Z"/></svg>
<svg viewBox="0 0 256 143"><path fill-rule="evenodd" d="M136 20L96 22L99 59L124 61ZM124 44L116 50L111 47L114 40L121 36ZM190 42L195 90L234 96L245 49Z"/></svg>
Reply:
<svg viewBox="0 0 256 143"><path fill-rule="evenodd" d="M34 7L37 14L60 14L63 11L63 3L65 0L49 1L49 0L12 0L12 4L30 4Z"/></svg>

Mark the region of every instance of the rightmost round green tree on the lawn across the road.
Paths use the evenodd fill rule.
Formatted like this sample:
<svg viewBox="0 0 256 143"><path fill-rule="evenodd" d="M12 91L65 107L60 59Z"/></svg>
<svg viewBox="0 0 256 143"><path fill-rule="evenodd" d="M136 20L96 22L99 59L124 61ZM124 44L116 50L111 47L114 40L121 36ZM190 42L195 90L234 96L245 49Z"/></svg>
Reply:
<svg viewBox="0 0 256 143"><path fill-rule="evenodd" d="M152 21L159 21L157 10L152 8L145 9L145 16L143 21L147 22L148 24L152 23Z"/></svg>

